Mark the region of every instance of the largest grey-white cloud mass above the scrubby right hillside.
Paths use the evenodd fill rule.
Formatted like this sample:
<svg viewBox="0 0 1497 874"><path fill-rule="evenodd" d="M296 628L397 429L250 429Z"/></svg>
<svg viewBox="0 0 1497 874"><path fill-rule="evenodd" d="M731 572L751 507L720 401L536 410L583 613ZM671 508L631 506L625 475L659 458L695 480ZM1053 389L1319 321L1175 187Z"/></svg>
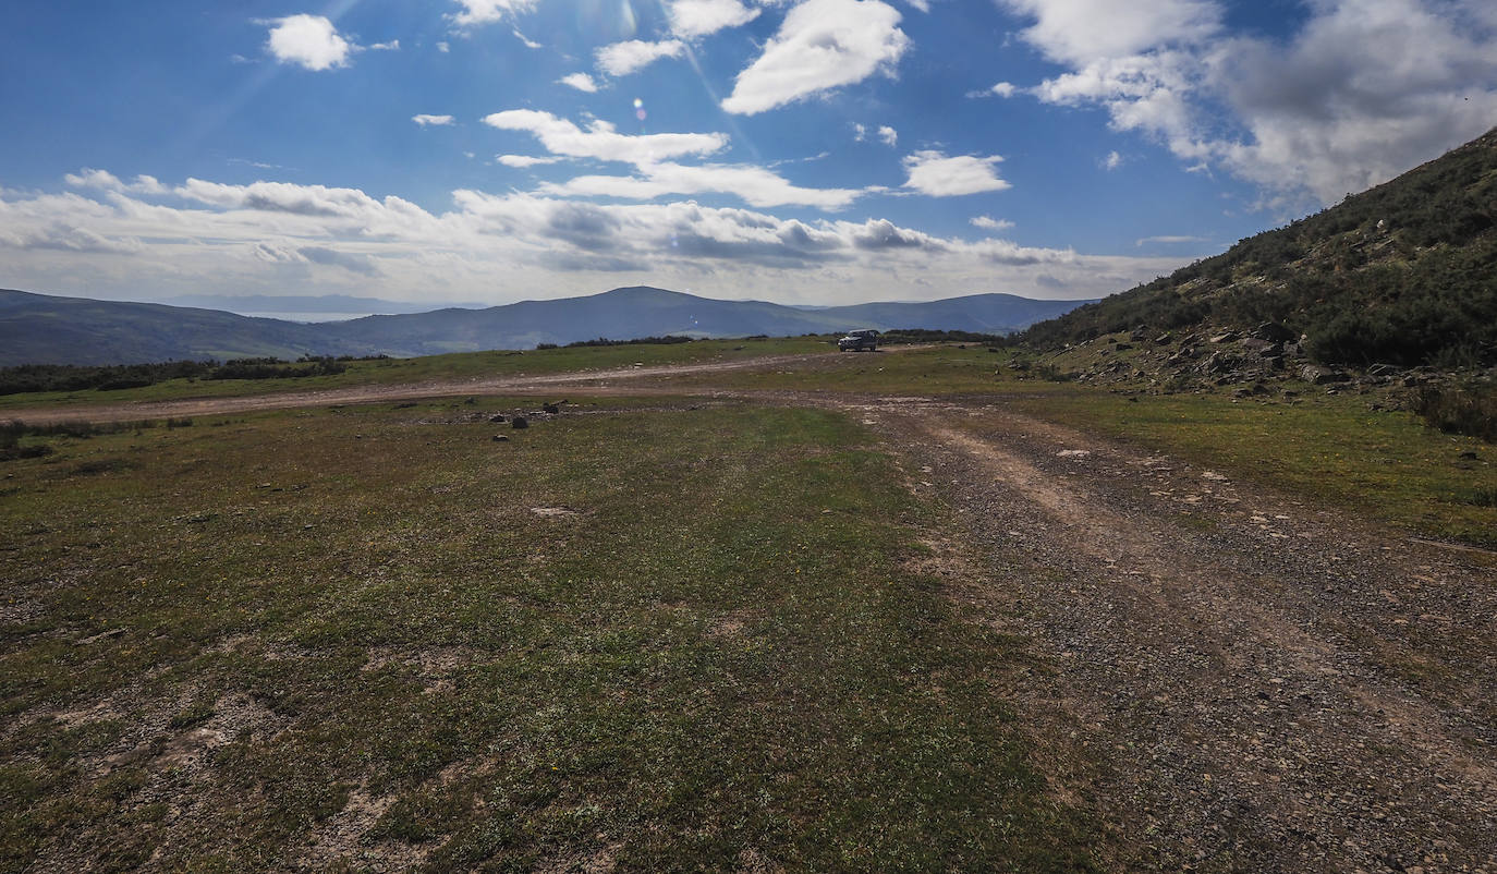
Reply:
<svg viewBox="0 0 1497 874"><path fill-rule="evenodd" d="M1070 67L1036 97L1103 106L1115 129L1226 169L1268 202L1332 204L1497 117L1488 0L1319 0L1284 39L1225 36L1205 0L1003 1L1034 18L1025 40Z"/></svg>

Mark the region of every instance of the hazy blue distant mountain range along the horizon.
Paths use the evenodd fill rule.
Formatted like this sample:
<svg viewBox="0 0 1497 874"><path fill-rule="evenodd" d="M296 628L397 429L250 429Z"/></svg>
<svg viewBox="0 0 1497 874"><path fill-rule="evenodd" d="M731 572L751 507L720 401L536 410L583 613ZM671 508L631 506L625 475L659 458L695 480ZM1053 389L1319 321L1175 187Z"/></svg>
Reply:
<svg viewBox="0 0 1497 874"><path fill-rule="evenodd" d="M365 301L373 298L343 296L329 305ZM599 337L784 337L850 328L1007 334L1087 302L969 295L921 304L807 310L763 301L714 301L636 286L484 310L446 308L307 325L211 308L0 290L0 367L302 355L418 356L533 349L540 343L566 344ZM295 311L310 311L304 308L307 305L298 301L296 307L302 308Z"/></svg>

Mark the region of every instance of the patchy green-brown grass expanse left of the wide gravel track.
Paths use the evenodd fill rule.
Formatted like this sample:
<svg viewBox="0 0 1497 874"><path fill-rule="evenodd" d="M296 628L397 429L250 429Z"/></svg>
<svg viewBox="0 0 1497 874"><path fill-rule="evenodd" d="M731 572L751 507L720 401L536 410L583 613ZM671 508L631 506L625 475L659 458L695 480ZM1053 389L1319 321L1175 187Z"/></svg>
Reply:
<svg viewBox="0 0 1497 874"><path fill-rule="evenodd" d="M1088 867L856 425L518 403L6 462L0 868Z"/></svg>

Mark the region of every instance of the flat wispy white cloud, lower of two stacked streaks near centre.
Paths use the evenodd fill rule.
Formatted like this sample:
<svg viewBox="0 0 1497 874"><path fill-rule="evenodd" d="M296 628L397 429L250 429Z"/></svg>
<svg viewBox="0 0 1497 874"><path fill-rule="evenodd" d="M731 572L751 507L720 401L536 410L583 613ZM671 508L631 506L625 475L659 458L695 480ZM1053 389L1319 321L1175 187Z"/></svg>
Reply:
<svg viewBox="0 0 1497 874"><path fill-rule="evenodd" d="M841 210L862 192L855 189L802 189L763 168L748 165L683 166L659 163L641 168L638 177L578 177L561 184L543 184L546 195L603 196L650 201L665 195L728 193L750 207L817 207Z"/></svg>

